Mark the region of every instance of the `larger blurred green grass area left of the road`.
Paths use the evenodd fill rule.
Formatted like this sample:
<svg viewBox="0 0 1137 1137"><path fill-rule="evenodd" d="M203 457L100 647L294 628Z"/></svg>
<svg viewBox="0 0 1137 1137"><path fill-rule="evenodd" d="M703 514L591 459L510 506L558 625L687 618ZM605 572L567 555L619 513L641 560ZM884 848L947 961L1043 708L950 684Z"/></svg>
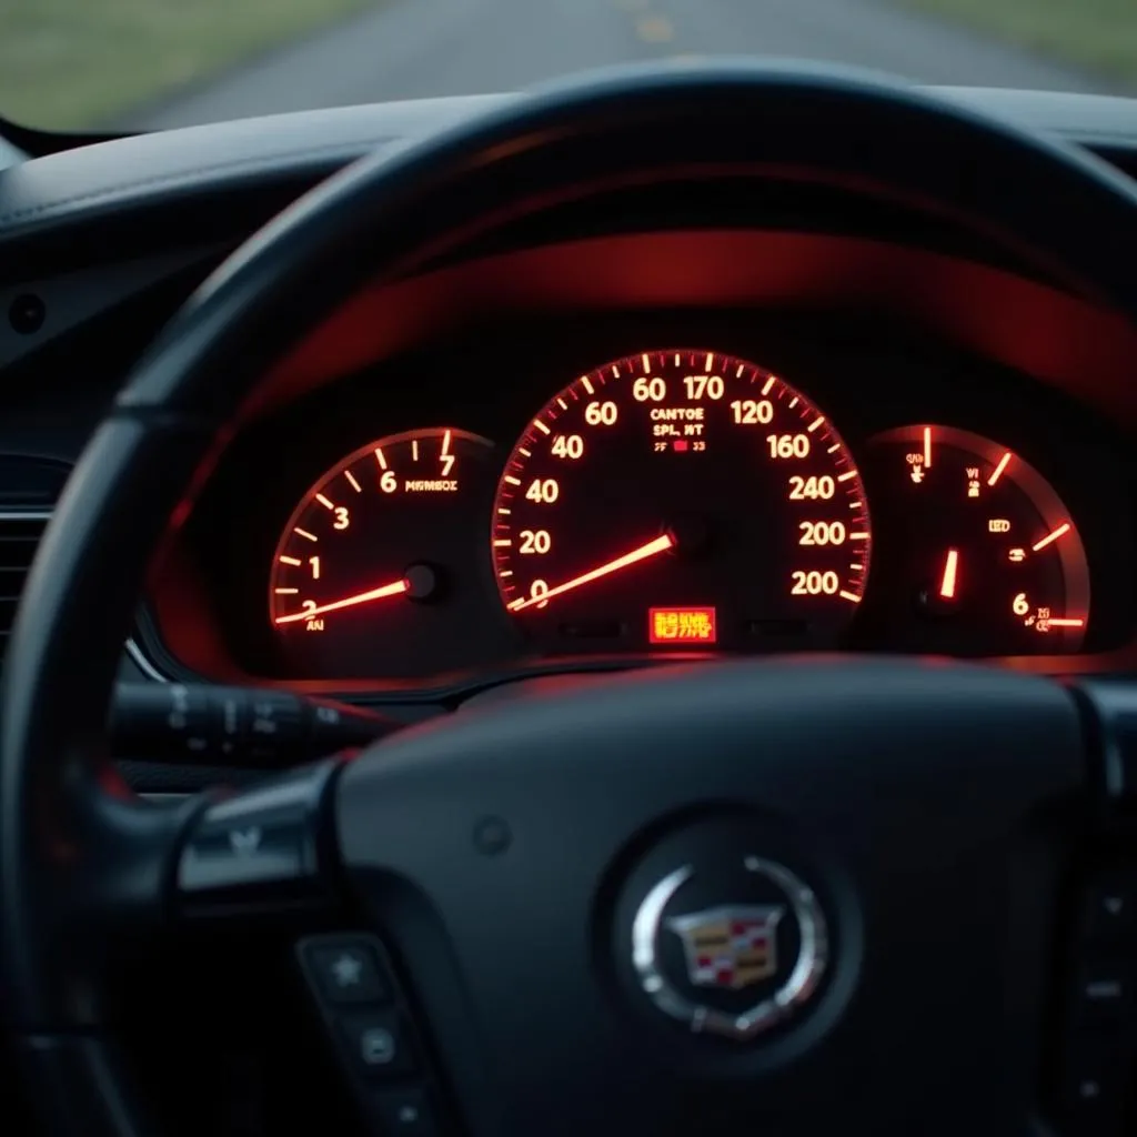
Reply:
<svg viewBox="0 0 1137 1137"><path fill-rule="evenodd" d="M0 0L0 115L77 130L375 0Z"/></svg>

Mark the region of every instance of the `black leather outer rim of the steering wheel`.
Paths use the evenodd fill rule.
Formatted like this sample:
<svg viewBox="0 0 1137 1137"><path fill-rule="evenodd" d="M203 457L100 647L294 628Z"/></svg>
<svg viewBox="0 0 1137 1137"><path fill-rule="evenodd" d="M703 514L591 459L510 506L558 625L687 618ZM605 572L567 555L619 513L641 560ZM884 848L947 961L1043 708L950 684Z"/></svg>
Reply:
<svg viewBox="0 0 1137 1137"><path fill-rule="evenodd" d="M487 210L524 208L566 171L584 184L645 163L697 167L715 152L936 204L1137 318L1128 181L1060 142L845 70L723 64L588 77L365 159L287 210L188 302L90 441L9 647L0 978L59 1131L138 1124L100 1034L106 958L118 938L160 922L169 861L156 850L175 847L199 805L132 799L107 752L108 702L151 556L255 407L258 380L365 281L413 272Z"/></svg>

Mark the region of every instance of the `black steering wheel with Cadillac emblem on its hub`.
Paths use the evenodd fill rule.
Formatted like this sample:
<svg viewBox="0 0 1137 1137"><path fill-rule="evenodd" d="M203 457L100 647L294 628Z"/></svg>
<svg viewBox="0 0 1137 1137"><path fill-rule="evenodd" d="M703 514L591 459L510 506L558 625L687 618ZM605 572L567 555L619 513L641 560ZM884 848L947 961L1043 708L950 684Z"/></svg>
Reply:
<svg viewBox="0 0 1137 1137"><path fill-rule="evenodd" d="M111 1026L119 953L317 898L345 930L299 964L376 1131L1005 1137L1053 1104L1077 872L1131 788L1101 690L931 661L708 664L501 700L229 797L155 804L115 774L147 566L272 363L365 282L558 196L724 168L949 216L1137 317L1128 181L845 72L590 77L288 209L90 440L9 648L3 1005L52 1131L144 1127Z"/></svg>

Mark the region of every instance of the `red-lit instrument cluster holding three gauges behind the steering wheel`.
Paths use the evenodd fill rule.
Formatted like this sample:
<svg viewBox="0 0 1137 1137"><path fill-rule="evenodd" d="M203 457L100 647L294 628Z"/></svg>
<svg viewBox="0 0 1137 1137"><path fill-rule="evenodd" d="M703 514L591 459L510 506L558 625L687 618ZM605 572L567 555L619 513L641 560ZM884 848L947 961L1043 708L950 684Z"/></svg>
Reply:
<svg viewBox="0 0 1137 1137"><path fill-rule="evenodd" d="M437 688L816 650L1061 671L1128 640L1123 449L1086 408L930 348L730 339L451 345L283 408L184 539L214 631L159 588L151 647Z"/></svg>

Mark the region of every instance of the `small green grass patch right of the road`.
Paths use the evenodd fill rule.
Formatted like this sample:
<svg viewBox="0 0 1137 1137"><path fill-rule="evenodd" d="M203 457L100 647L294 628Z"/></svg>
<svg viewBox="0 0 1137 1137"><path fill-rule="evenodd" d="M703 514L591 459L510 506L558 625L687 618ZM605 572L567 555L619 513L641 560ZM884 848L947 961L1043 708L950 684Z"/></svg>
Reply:
<svg viewBox="0 0 1137 1137"><path fill-rule="evenodd" d="M893 0L1126 84L1137 82L1137 0Z"/></svg>

